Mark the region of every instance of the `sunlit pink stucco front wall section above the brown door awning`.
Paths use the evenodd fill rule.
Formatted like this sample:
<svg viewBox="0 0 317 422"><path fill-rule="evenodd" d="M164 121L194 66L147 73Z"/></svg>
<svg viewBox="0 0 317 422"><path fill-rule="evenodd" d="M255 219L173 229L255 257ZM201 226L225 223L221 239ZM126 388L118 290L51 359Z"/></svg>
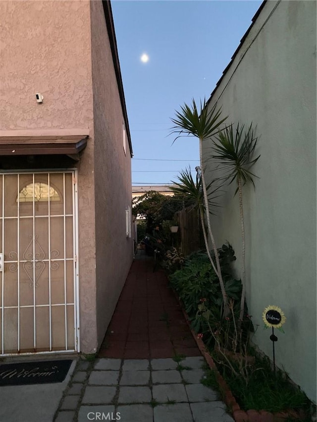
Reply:
<svg viewBox="0 0 317 422"><path fill-rule="evenodd" d="M89 1L0 1L0 16L0 130L91 128Z"/></svg>

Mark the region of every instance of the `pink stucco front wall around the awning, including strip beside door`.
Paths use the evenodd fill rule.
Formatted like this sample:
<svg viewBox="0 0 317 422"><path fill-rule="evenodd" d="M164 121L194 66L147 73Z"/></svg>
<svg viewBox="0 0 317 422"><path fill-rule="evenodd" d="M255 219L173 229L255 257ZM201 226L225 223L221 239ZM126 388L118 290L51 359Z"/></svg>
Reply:
<svg viewBox="0 0 317 422"><path fill-rule="evenodd" d="M82 350L96 349L90 2L0 1L0 16L0 130L90 133L78 165L80 332Z"/></svg>

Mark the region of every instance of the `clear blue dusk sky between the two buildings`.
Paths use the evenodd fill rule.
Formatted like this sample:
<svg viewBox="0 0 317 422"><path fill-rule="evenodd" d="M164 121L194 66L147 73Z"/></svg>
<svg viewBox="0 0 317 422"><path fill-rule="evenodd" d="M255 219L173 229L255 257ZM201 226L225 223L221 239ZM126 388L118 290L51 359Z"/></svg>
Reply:
<svg viewBox="0 0 317 422"><path fill-rule="evenodd" d="M170 117L184 102L210 97L261 3L111 2L134 153L132 185L168 184L189 165L195 170L198 140L172 144Z"/></svg>

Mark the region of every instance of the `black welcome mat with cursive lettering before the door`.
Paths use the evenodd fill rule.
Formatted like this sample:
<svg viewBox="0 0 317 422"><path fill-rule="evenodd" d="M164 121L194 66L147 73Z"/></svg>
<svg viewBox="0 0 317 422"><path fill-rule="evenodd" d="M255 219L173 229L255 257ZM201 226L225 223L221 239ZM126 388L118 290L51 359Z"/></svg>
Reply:
<svg viewBox="0 0 317 422"><path fill-rule="evenodd" d="M0 385L62 382L72 360L39 361L0 365Z"/></svg>

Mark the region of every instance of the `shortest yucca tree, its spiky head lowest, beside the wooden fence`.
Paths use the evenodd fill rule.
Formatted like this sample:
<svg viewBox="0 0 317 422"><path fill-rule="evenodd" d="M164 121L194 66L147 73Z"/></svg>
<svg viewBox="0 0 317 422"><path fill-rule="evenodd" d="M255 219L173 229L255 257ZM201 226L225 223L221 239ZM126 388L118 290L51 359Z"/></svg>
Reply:
<svg viewBox="0 0 317 422"><path fill-rule="evenodd" d="M205 227L205 205L204 205L204 193L203 193L203 186L202 186L202 176L201 172L196 172L196 181L191 173L191 169L181 170L179 176L177 176L178 182L173 182L174 186L170 187L170 190L176 194L182 195L184 198L189 198L189 203L191 203L192 207L197 210L200 222L203 229L204 241L207 250L208 257L210 259L211 265L215 273L217 273L216 267L214 265L213 259L211 258L211 253L208 245L208 236L206 233ZM217 198L219 195L214 195L219 186L213 188L211 190L211 186L214 181L212 181L209 185L206 186L206 190L208 192L208 204L210 207L218 206L216 202L213 200ZM212 211L211 211L212 214Z"/></svg>

